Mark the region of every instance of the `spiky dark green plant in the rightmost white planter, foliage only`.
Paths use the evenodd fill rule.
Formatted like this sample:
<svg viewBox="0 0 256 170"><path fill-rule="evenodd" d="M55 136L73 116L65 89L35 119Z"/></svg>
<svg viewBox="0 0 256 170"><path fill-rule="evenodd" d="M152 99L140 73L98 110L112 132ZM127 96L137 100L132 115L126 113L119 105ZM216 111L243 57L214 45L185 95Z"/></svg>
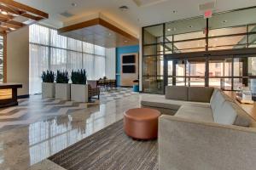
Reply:
<svg viewBox="0 0 256 170"><path fill-rule="evenodd" d="M86 84L87 82L86 71L83 69L78 71L72 71L71 81L73 84Z"/></svg>

